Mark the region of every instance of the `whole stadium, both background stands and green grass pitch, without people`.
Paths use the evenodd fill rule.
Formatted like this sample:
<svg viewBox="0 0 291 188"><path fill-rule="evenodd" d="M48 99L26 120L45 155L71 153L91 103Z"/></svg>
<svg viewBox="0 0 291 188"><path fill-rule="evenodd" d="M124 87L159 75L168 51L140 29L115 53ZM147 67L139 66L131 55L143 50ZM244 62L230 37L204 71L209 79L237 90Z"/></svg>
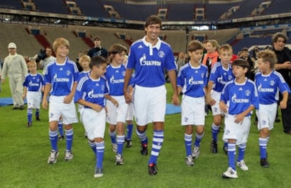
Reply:
<svg viewBox="0 0 291 188"><path fill-rule="evenodd" d="M8 55L8 43L16 43L17 53L30 58L58 37L70 42L69 58L94 46L101 36L102 46L120 43L129 48L141 39L148 15L162 18L160 39L169 43L177 56L187 51L188 42L215 39L229 43L233 53L247 47L264 49L271 37L283 32L291 37L291 1L289 0L1 0L0 58ZM286 46L289 41L287 41ZM8 82L2 84L0 98L11 97ZM166 83L167 103L172 88ZM149 176L148 157L141 156L138 137L132 147L124 149L124 166L115 166L114 154L105 130L104 176L93 178L93 156L84 139L82 123L74 125L72 161L58 159L46 163L48 143L48 110L41 109L41 121L26 128L26 112L1 106L0 125L0 187L289 187L290 135L283 133L282 121L274 124L268 145L270 168L259 163L257 126L252 126L245 160L249 170L238 169L237 180L225 180L221 173L228 163L222 147L221 128L219 152L209 151L212 115L205 118L205 137L195 165L185 165L184 129L180 109L168 112L165 139L159 156L159 174ZM280 116L280 110L279 116ZM149 129L151 127L149 126ZM152 140L151 130L148 138ZM193 133L194 135L195 133ZM65 148L65 141L58 143ZM63 156L63 151L60 152Z"/></svg>

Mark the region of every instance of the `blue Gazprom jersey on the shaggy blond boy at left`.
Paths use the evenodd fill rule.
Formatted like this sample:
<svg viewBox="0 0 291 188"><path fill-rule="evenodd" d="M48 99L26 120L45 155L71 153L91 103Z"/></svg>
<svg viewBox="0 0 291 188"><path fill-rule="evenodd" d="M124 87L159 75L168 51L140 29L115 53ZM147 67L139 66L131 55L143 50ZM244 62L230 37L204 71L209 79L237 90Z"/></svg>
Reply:
<svg viewBox="0 0 291 188"><path fill-rule="evenodd" d="M58 64L56 60L48 64L44 82L51 84L51 95L69 95L78 76L76 63L66 58L64 64Z"/></svg>

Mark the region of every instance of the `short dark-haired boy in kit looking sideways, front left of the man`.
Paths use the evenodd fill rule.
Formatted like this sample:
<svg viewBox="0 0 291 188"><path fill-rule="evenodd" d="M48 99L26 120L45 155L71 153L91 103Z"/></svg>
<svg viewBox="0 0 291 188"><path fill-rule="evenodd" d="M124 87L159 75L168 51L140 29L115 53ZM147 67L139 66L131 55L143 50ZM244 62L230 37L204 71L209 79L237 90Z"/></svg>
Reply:
<svg viewBox="0 0 291 188"><path fill-rule="evenodd" d="M105 133L105 98L108 88L103 74L106 72L106 60L102 56L93 57L90 62L91 72L79 80L75 100L82 105L80 115L89 146L96 158L94 177L103 176L104 133Z"/></svg>

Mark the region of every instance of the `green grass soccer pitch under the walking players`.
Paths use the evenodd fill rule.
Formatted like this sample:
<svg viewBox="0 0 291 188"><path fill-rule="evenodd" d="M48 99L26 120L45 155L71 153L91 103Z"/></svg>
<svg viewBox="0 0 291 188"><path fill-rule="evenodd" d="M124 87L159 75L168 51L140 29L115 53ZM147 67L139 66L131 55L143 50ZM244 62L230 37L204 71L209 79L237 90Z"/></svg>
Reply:
<svg viewBox="0 0 291 188"><path fill-rule="evenodd" d="M167 83L168 102L171 87ZM8 81L2 86L0 98L10 96ZM26 106L25 106L26 107ZM204 110L204 109L202 109ZM110 137L105 132L104 175L94 178L95 159L84 138L81 123L74 125L72 152L74 159L65 161L65 140L58 142L60 156L56 164L48 164L51 146L48 140L48 112L41 108L41 121L33 121L26 128L26 110L0 107L0 187L290 187L291 135L283 133L281 123L271 131L268 145L270 168L259 163L258 131L252 121L245 161L248 171L238 168L238 179L226 180L221 174L228 167L227 155L222 150L222 130L219 133L219 152L210 152L212 115L206 118L205 136L200 156L193 167L186 166L184 129L180 114L166 116L164 144L155 176L148 175L148 156L141 156L140 144L133 134L133 146L124 147L124 165L115 166ZM291 114L290 114L291 115ZM34 118L33 118L34 119ZM195 133L193 134L193 140ZM153 131L148 127L149 147ZM150 149L150 148L149 148Z"/></svg>

